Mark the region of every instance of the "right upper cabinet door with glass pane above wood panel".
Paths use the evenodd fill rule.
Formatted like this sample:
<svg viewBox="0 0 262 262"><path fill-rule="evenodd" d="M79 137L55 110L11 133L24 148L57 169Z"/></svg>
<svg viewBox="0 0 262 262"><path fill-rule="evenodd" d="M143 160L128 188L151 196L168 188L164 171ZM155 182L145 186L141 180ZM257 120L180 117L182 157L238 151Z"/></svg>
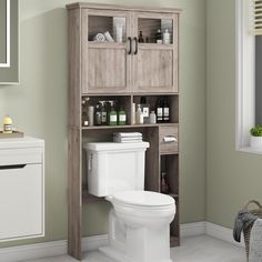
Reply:
<svg viewBox="0 0 262 262"><path fill-rule="evenodd" d="M178 14L134 12L132 19L133 91L178 93Z"/></svg>

